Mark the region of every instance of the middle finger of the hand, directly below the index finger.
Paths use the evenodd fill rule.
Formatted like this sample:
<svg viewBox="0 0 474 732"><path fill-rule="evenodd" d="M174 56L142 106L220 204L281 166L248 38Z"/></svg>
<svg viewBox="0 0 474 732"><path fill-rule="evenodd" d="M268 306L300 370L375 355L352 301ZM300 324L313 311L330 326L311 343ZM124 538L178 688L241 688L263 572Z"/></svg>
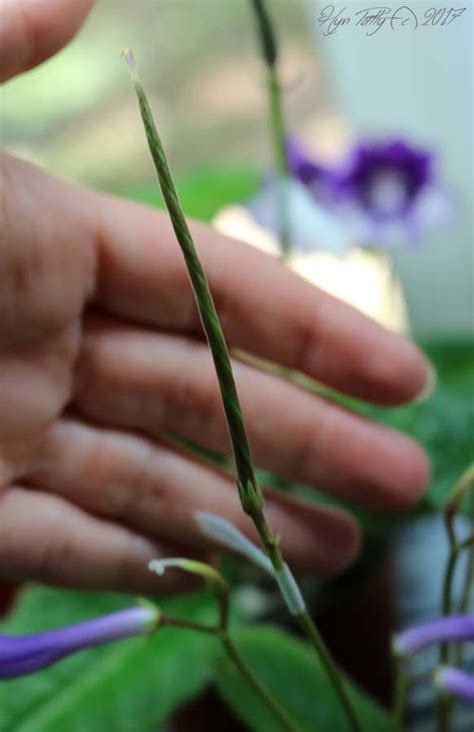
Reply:
<svg viewBox="0 0 474 732"><path fill-rule="evenodd" d="M428 465L410 438L246 364L234 368L260 467L384 510L420 497ZM199 341L93 316L75 395L94 419L230 453L211 356Z"/></svg>

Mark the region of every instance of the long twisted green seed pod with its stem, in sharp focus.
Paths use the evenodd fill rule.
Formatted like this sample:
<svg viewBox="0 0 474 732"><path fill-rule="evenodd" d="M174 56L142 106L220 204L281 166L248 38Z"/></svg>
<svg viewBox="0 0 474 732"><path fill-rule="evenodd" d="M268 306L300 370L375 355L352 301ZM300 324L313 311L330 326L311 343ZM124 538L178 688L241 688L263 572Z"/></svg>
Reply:
<svg viewBox="0 0 474 732"><path fill-rule="evenodd" d="M353 731L361 732L361 724L357 718L357 714L347 691L340 679L337 666L332 660L329 651L325 647L322 638L319 636L311 617L306 611L296 580L283 559L283 555L279 547L279 539L273 533L265 518L263 494L255 473L229 351L222 327L212 299L206 275L197 255L191 232L181 209L176 187L173 182L161 139L153 120L148 100L138 78L133 55L131 51L125 51L124 56L131 71L148 146L155 164L160 188L171 218L176 238L185 259L189 278L199 309L201 322L212 353L234 453L237 472L237 488L242 509L250 516L255 524L262 543L271 560L275 571L275 578L277 579L280 589L284 594L285 600L287 601L290 610L296 616L302 630L318 652L321 662L325 666L326 671L333 682L334 688L339 695L341 704L347 712ZM292 603L293 606L291 606Z"/></svg>

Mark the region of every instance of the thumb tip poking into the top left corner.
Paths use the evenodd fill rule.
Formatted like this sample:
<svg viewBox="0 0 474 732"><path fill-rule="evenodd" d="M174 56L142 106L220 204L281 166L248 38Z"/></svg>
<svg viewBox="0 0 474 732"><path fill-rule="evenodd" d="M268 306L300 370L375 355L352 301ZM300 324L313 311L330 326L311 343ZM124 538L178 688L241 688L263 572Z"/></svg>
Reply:
<svg viewBox="0 0 474 732"><path fill-rule="evenodd" d="M0 82L59 51L94 0L0 0Z"/></svg>

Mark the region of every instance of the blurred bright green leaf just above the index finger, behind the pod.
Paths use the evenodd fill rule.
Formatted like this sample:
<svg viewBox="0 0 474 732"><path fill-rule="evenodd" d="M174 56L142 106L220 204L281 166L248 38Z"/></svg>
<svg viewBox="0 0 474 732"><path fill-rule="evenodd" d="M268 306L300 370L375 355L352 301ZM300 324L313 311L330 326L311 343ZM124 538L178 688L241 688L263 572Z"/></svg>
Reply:
<svg viewBox="0 0 474 732"><path fill-rule="evenodd" d="M206 167L179 178L176 187L186 216L210 221L224 206L251 198L259 184L260 174L252 168ZM158 184L126 186L112 192L137 203L164 208Z"/></svg>

